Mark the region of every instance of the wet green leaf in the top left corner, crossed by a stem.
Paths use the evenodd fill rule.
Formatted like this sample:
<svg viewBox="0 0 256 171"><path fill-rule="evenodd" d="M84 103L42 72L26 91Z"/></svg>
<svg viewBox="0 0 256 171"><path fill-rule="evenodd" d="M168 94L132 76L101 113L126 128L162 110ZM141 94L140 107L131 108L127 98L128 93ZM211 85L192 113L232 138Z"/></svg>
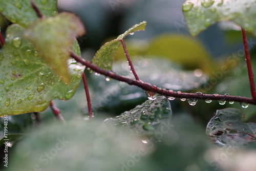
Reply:
<svg viewBox="0 0 256 171"><path fill-rule="evenodd" d="M42 15L53 16L57 14L57 0L33 0L33 2L35 2ZM0 12L12 23L17 23L23 27L28 27L38 18L28 0L0 0Z"/></svg>

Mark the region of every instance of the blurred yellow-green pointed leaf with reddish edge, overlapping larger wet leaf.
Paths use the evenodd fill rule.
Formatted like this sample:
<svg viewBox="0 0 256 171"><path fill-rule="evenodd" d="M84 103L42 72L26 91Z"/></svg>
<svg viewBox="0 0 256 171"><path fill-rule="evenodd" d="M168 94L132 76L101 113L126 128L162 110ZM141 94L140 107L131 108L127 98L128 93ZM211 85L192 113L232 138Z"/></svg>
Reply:
<svg viewBox="0 0 256 171"><path fill-rule="evenodd" d="M67 60L75 37L85 33L81 20L73 13L62 12L54 17L39 18L24 33L38 54L51 66L62 81L70 83Z"/></svg>

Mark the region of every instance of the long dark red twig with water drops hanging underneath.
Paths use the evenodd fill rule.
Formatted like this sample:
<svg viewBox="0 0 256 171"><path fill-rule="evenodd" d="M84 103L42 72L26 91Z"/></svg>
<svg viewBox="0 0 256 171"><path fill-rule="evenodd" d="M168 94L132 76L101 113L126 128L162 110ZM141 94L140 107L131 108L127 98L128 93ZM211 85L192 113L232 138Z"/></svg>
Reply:
<svg viewBox="0 0 256 171"><path fill-rule="evenodd" d="M251 98L247 97L239 97L239 96L229 96L229 95L218 95L218 94L195 94L195 93L182 93L180 91L175 92L173 90L166 90L162 88L158 88L154 85L151 85L150 83L143 82L143 81L138 81L134 79L130 79L121 75L117 75L114 72L111 71L105 71L98 66L92 64L91 62L84 60L83 58L77 56L75 53L71 52L70 56L74 58L77 62L82 63L82 65L86 66L87 68L90 68L91 70L101 74L105 75L106 77L110 77L113 79L116 79L118 81L126 82L130 85L134 85L137 87L140 87L141 89L145 91L151 91L155 92L161 95L165 96L172 96L172 97L177 97L177 98L196 98L196 99L202 99L202 100L226 100L226 101L237 101L237 102L245 102L248 104L256 104L256 101Z"/></svg>

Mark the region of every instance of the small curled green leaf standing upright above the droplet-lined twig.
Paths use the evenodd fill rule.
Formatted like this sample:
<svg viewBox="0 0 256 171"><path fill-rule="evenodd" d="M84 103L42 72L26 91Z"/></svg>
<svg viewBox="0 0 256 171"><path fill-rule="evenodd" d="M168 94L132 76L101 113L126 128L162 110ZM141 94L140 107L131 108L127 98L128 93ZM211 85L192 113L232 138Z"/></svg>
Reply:
<svg viewBox="0 0 256 171"><path fill-rule="evenodd" d="M133 35L135 31L145 30L146 22L141 22L136 24L131 29L127 30L123 34L119 35L116 39L106 42L95 54L92 63L97 65L99 68L104 70L112 70L112 65L114 61L114 57L116 55L116 51L118 46L121 44L120 40L125 36L131 34ZM91 71L92 73L92 71Z"/></svg>

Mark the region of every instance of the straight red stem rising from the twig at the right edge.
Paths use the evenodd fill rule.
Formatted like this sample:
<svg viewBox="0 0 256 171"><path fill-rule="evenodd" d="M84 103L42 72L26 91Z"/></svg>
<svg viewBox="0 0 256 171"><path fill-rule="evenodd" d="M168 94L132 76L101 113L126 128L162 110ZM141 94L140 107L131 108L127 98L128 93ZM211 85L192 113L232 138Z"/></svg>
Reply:
<svg viewBox="0 0 256 171"><path fill-rule="evenodd" d="M250 81L250 88L251 88L251 96L254 100L256 100L256 91L255 91L255 83L254 83L254 74L251 67L251 57L246 37L245 29L242 28L242 36L243 36L243 42L244 42L244 52L245 52L245 58L247 63L247 70L249 75L249 81Z"/></svg>

